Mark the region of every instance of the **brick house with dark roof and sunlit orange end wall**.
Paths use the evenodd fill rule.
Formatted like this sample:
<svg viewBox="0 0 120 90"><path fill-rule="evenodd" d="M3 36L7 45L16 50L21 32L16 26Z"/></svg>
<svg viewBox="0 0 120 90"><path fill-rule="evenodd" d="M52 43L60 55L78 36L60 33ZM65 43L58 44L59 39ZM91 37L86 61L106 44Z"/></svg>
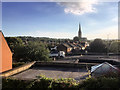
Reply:
<svg viewBox="0 0 120 90"><path fill-rule="evenodd" d="M68 44L64 43L64 44L60 44L57 46L57 50L58 51L64 51L65 53L70 53L72 50L72 47L69 46Z"/></svg>

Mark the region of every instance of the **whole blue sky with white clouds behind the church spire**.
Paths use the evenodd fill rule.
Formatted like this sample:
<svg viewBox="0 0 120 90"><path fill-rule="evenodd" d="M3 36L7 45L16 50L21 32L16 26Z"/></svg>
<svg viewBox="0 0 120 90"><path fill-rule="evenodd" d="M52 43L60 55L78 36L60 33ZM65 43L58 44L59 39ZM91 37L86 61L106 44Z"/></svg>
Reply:
<svg viewBox="0 0 120 90"><path fill-rule="evenodd" d="M117 2L3 2L5 36L118 38Z"/></svg>

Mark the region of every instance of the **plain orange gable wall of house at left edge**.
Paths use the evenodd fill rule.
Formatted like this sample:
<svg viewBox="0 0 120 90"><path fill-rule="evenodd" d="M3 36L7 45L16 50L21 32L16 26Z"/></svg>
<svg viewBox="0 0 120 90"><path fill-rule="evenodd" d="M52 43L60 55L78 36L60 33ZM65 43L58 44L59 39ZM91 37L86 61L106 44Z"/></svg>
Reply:
<svg viewBox="0 0 120 90"><path fill-rule="evenodd" d="M0 31L0 73L12 69L12 52Z"/></svg>

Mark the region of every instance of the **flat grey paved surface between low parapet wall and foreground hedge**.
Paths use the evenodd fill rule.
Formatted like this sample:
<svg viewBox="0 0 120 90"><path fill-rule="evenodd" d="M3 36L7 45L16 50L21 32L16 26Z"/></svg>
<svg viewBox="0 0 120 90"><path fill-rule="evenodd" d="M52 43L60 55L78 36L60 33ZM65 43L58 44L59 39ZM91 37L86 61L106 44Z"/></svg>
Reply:
<svg viewBox="0 0 120 90"><path fill-rule="evenodd" d="M79 81L88 77L88 72L85 68L33 67L12 77L29 80L36 79L36 76L39 75L45 75L45 77L53 79L74 78Z"/></svg>

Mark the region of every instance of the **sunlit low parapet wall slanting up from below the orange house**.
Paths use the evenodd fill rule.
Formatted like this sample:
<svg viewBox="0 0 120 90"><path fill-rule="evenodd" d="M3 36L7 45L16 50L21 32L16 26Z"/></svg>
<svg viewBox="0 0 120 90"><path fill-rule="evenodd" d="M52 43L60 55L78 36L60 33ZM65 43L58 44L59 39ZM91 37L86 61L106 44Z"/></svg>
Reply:
<svg viewBox="0 0 120 90"><path fill-rule="evenodd" d="M22 72L22 71L30 68L32 65L35 64L35 62L36 62L36 61L27 63L27 64L25 64L25 65L21 65L21 66L16 67L16 68L13 68L13 69L11 69L11 70L9 70L9 71L6 71L6 72L1 73L0 76L2 76L2 77L8 77L8 76L17 74L17 73L19 73L19 72Z"/></svg>

